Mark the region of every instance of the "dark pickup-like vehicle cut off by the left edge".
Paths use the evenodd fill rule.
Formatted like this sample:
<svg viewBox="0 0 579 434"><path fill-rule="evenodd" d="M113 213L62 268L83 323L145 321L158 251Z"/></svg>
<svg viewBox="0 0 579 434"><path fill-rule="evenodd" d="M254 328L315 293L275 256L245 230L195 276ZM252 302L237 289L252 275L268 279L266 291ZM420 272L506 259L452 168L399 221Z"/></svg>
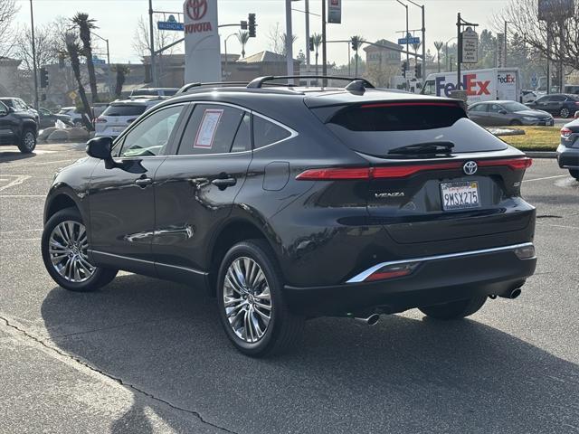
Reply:
<svg viewBox="0 0 579 434"><path fill-rule="evenodd" d="M36 147L38 124L28 110L14 110L0 101L0 145L16 145L29 154Z"/></svg>

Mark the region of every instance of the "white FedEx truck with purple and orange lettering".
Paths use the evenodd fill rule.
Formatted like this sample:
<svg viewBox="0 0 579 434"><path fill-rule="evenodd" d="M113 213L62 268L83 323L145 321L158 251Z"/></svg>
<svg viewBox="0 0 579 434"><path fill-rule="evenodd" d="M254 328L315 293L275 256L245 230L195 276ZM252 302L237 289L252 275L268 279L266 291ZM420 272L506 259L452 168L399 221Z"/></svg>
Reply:
<svg viewBox="0 0 579 434"><path fill-rule="evenodd" d="M520 74L517 68L461 71L461 76L460 90L467 91L468 104L493 99L519 101L521 98ZM450 98L452 90L459 90L456 79L456 71L430 74L421 93Z"/></svg>

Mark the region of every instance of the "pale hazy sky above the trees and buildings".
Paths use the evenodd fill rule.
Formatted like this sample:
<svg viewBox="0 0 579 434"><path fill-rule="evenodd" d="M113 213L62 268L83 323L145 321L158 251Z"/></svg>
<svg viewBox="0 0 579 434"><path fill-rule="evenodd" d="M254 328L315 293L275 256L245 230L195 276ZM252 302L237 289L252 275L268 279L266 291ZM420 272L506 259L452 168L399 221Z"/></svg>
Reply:
<svg viewBox="0 0 579 434"><path fill-rule="evenodd" d="M218 0L219 23L237 23L246 20L247 14L257 14L257 37L252 38L246 46L247 54L270 48L268 34L276 24L285 32L284 0ZM401 35L397 33L405 28L405 8L395 0L342 0L342 24L327 24L327 40L347 40L352 35L361 35L367 41L388 39L396 41ZM404 0L402 0L404 1ZM322 0L309 0L310 33L321 31L321 18L314 14L321 13ZM20 25L30 23L29 0L17 0L21 9L17 17ZM435 52L432 42L446 42L456 36L456 18L460 12L464 19L480 24L480 28L491 27L493 14L508 5L508 0L416 0L424 4L426 10L427 48ZM305 0L293 2L293 8L304 10ZM77 12L85 12L97 20L98 33L109 39L111 62L139 62L132 42L139 16L147 18L147 0L33 0L35 24L50 23L57 16L71 17ZM156 11L182 12L183 2L176 0L153 0ZM299 50L306 50L305 14L292 13L293 33L298 36L294 43L294 55ZM421 28L421 10L417 6L409 8L410 29ZM223 28L223 38L238 29ZM416 33L418 35L418 33ZM239 42L232 37L227 42L227 51L241 52ZM347 62L346 43L329 43L328 61L337 64ZM312 60L313 62L313 60Z"/></svg>

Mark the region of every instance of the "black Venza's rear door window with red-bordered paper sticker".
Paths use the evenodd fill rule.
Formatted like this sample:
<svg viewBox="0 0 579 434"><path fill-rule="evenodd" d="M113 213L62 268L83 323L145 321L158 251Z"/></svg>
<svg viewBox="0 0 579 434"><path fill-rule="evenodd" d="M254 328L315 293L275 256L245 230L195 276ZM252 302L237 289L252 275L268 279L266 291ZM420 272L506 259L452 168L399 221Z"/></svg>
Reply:
<svg viewBox="0 0 579 434"><path fill-rule="evenodd" d="M243 110L229 106L195 105L181 138L178 155L203 156L230 152L244 116Z"/></svg>

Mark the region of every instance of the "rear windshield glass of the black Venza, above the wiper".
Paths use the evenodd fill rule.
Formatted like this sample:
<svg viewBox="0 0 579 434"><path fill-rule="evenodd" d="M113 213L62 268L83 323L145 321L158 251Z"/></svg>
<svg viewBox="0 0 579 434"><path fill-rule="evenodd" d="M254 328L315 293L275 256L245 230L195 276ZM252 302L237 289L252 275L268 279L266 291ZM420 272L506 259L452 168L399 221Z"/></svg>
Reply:
<svg viewBox="0 0 579 434"><path fill-rule="evenodd" d="M454 103L386 103L314 109L346 146L371 156L388 156L403 146L449 142L452 153L498 151L507 145L467 118ZM394 153L391 153L392 156Z"/></svg>

